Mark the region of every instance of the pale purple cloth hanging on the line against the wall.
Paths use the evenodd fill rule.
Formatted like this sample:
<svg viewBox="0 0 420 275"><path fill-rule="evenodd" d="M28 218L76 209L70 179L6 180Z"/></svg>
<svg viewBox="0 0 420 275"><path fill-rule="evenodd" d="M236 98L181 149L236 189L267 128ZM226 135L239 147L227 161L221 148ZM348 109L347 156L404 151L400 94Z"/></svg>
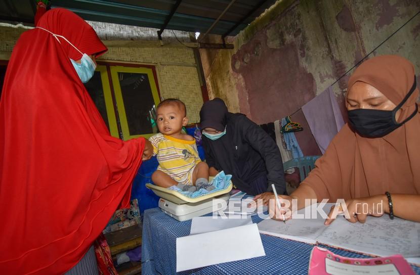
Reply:
<svg viewBox="0 0 420 275"><path fill-rule="evenodd" d="M331 86L305 104L302 111L321 153L324 154L332 138L344 126L343 116Z"/></svg>

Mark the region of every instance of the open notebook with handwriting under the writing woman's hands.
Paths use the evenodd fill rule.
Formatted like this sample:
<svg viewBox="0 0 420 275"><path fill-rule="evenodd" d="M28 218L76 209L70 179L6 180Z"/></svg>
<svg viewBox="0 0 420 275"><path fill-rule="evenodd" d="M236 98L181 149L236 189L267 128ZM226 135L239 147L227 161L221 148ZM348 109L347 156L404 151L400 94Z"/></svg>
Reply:
<svg viewBox="0 0 420 275"><path fill-rule="evenodd" d="M325 213L328 214L331 205L323 207ZM310 213L308 209L301 209L297 214L304 214L305 210ZM365 223L351 223L343 216L338 216L328 226L324 225L324 218L320 214L316 219L290 219L286 223L265 219L258 223L258 228L262 234L374 256L420 256L420 222L400 218L391 220L386 214L379 218L368 216Z"/></svg>

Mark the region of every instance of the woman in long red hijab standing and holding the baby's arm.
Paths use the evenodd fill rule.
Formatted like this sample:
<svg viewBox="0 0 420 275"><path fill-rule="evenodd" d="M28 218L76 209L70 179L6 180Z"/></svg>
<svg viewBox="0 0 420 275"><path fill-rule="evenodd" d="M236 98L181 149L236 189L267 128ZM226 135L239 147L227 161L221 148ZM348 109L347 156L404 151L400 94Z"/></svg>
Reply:
<svg viewBox="0 0 420 275"><path fill-rule="evenodd" d="M117 207L129 206L150 143L110 136L72 64L106 51L64 9L44 14L15 45L0 102L2 274L66 272Z"/></svg>

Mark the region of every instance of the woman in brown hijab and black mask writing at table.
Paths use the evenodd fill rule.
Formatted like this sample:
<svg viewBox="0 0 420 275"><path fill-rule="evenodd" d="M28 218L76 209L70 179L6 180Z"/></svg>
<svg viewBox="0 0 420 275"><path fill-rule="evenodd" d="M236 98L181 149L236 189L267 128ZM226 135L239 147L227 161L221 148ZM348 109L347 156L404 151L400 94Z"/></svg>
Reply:
<svg viewBox="0 0 420 275"><path fill-rule="evenodd" d="M364 222L369 214L363 212L420 221L418 96L413 65L405 58L388 55L363 62L349 80L349 123L300 187L279 197L290 203L297 199L298 209L305 207L305 199L344 199L351 222ZM375 213L381 203L382 213ZM368 211L362 211L363 204ZM274 205L271 214L282 219L284 210ZM332 212L325 224L332 222Z"/></svg>

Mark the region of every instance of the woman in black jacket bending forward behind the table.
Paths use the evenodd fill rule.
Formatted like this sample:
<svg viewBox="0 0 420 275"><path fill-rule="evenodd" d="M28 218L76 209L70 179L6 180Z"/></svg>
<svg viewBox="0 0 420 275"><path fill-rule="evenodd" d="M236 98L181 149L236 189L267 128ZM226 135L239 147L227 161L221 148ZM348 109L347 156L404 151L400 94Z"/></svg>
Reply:
<svg viewBox="0 0 420 275"><path fill-rule="evenodd" d="M232 174L234 186L249 195L286 193L280 151L270 136L244 114L230 113L219 98L200 111L203 147L211 176Z"/></svg>

